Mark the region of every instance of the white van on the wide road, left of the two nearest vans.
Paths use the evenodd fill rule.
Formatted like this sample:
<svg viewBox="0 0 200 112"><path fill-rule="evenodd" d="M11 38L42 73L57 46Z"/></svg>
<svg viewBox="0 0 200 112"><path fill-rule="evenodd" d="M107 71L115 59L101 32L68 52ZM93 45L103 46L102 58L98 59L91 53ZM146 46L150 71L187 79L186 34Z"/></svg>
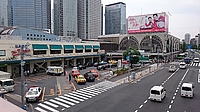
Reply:
<svg viewBox="0 0 200 112"><path fill-rule="evenodd" d="M150 100L160 101L166 97L166 89L163 86L153 86L150 90Z"/></svg>

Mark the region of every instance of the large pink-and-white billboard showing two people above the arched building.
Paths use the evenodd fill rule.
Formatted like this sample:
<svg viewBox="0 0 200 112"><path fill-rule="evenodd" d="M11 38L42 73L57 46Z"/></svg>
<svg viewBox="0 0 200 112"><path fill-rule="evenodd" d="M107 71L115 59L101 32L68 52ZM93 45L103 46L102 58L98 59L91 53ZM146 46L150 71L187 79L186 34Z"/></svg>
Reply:
<svg viewBox="0 0 200 112"><path fill-rule="evenodd" d="M168 32L168 16L165 12L129 16L128 34L144 32Z"/></svg>

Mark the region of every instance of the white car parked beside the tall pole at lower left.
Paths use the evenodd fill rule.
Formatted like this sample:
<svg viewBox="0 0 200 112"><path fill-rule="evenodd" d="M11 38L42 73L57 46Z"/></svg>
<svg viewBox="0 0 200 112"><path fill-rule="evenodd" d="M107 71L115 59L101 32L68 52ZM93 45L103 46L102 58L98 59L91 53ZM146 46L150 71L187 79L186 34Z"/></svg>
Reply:
<svg viewBox="0 0 200 112"><path fill-rule="evenodd" d="M39 101L42 96L42 87L31 86L25 96L26 102Z"/></svg>

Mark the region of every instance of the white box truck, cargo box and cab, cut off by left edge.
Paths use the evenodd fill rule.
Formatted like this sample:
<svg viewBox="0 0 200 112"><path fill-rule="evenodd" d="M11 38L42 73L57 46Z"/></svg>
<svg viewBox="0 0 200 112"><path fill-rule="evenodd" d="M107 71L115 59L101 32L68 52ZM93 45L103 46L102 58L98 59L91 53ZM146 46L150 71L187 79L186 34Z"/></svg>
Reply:
<svg viewBox="0 0 200 112"><path fill-rule="evenodd" d="M11 74L0 71L0 89L5 89L7 92L14 91L14 80L10 79Z"/></svg>

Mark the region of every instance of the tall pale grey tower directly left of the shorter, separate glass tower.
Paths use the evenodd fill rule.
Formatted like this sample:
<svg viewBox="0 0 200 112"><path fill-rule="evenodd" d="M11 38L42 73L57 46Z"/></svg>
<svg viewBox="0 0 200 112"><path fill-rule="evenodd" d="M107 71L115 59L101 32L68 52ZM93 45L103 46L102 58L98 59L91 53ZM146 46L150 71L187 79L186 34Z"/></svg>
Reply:
<svg viewBox="0 0 200 112"><path fill-rule="evenodd" d="M102 33L101 0L78 0L78 37L97 38Z"/></svg>

